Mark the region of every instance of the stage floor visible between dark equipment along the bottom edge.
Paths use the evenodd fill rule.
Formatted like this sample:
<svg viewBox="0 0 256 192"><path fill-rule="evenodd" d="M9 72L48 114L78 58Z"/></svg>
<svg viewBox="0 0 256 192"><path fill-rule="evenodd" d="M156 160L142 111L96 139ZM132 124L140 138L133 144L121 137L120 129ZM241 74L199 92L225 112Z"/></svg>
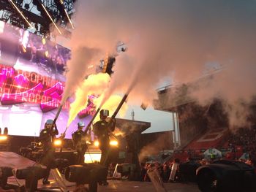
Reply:
<svg viewBox="0 0 256 192"><path fill-rule="evenodd" d="M14 169L22 169L27 166L34 166L36 162L24 158L16 153L12 152L0 152L0 166L10 166ZM37 164L38 166L38 164ZM64 179L64 177L62 177ZM50 175L50 185L42 185L42 180L38 182L38 191L61 191L58 183L53 179L53 175ZM18 180L19 183L24 183L24 180ZM8 183L13 185L18 185L15 177L9 177ZM64 183L67 186L68 191L74 191L75 183L69 183L64 179ZM108 180L108 186L99 185L99 192L154 192L154 186L151 182L135 182L127 180ZM195 183L165 183L165 188L167 191L172 192L199 192L197 185Z"/></svg>

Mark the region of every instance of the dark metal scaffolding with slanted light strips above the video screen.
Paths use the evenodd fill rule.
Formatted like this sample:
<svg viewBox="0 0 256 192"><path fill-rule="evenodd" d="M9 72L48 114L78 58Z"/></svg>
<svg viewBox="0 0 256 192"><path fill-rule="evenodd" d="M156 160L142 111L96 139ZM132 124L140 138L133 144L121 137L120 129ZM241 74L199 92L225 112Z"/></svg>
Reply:
<svg viewBox="0 0 256 192"><path fill-rule="evenodd" d="M74 2L75 0L0 0L0 20L29 29L40 36L49 35L50 25L57 23L61 31L64 31L64 36L69 37L69 29L72 28L69 18L75 10Z"/></svg>

